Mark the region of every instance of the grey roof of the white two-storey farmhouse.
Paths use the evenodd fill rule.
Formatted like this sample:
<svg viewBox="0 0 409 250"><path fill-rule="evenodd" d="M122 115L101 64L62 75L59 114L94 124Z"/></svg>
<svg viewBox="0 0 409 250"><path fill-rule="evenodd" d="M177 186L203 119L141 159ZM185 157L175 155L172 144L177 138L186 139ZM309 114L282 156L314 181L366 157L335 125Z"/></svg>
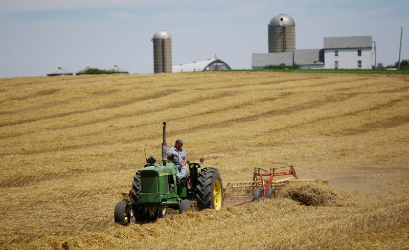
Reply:
<svg viewBox="0 0 409 250"><path fill-rule="evenodd" d="M324 37L324 49L372 49L372 36Z"/></svg>

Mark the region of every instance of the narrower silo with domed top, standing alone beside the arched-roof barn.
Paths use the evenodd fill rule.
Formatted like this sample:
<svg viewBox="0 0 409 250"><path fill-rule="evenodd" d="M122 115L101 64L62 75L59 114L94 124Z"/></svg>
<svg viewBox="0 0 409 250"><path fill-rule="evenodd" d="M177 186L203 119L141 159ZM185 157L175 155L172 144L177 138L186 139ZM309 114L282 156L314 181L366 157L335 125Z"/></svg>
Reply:
<svg viewBox="0 0 409 250"><path fill-rule="evenodd" d="M153 41L153 72L172 73L172 37L167 31L157 31Z"/></svg>

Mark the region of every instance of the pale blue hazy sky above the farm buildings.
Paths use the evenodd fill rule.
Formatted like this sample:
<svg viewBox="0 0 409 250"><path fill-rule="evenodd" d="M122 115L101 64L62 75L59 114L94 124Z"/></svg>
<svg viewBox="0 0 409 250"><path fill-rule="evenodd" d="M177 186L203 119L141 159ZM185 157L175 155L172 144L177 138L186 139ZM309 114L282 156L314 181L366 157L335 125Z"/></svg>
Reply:
<svg viewBox="0 0 409 250"><path fill-rule="evenodd" d="M371 35L386 66L399 59L401 28L401 60L409 59L408 10L409 0L0 0L0 78L113 65L153 74L158 30L172 37L173 65L217 57L251 69L252 53L268 53L268 24L280 13L296 23L296 49Z"/></svg>

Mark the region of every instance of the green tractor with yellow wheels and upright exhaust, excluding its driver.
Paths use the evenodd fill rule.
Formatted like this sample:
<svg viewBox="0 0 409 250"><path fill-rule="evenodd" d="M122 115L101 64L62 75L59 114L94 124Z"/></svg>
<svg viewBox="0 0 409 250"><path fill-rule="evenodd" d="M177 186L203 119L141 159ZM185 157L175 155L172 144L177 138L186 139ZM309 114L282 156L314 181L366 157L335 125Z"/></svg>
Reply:
<svg viewBox="0 0 409 250"><path fill-rule="evenodd" d="M136 223L154 221L166 215L167 209L179 213L197 210L220 210L223 206L223 186L216 168L202 168L199 163L189 163L189 173L177 179L177 168L167 157L166 122L163 123L162 162L150 156L143 169L133 176L132 189L115 206L115 222L127 225L132 218ZM199 172L199 169L201 171Z"/></svg>

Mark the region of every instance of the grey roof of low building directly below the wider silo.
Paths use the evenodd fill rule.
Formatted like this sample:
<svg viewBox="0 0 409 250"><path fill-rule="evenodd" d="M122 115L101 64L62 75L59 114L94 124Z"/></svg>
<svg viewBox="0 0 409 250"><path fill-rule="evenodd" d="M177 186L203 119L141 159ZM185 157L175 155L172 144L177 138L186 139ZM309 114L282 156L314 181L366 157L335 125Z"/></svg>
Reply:
<svg viewBox="0 0 409 250"><path fill-rule="evenodd" d="M280 65L285 63L286 66L292 65L293 52L277 52L252 54L252 67L265 67L268 65Z"/></svg>

